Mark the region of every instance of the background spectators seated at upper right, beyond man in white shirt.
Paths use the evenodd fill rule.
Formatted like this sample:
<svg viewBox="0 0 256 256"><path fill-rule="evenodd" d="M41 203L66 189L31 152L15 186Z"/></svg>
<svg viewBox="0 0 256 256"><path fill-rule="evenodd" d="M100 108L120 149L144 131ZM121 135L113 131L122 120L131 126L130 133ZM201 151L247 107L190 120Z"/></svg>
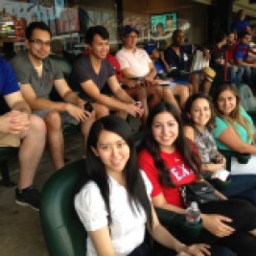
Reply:
<svg viewBox="0 0 256 256"><path fill-rule="evenodd" d="M225 80L236 84L247 83L254 90L255 47L252 42L252 31L245 20L244 11L241 10L239 19L229 33L216 33L211 45L197 46L196 50L203 52L203 58L198 61L210 62L210 68L216 73L216 81L221 81L225 77ZM190 63L194 53L184 41L185 33L182 30L175 30L169 46L160 49L155 47L156 44L154 47L146 45L145 49L151 56L159 77L167 74L176 84L189 84L190 94L197 93L198 90L209 93L211 81L200 78L198 74L204 75L200 70L191 72L193 66L190 66ZM207 72L213 74L210 75L212 80L215 78L215 73L212 70L210 73ZM199 84L200 81L203 81L203 84Z"/></svg>

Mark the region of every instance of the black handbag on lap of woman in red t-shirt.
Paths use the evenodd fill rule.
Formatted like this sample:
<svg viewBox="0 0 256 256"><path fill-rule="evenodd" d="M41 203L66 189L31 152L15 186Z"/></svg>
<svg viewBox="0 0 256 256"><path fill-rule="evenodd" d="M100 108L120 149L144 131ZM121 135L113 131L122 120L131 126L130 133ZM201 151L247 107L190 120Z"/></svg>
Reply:
<svg viewBox="0 0 256 256"><path fill-rule="evenodd" d="M207 181L196 181L179 187L180 196L185 207L190 206L192 201L198 204L216 201L215 188Z"/></svg>

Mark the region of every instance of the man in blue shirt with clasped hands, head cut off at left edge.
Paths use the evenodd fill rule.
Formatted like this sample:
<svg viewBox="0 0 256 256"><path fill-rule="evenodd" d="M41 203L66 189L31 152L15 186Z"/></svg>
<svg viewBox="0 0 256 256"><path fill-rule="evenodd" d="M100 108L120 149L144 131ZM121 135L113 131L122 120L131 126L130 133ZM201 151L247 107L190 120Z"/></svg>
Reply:
<svg viewBox="0 0 256 256"><path fill-rule="evenodd" d="M4 58L0 58L0 94L11 108L0 116L0 147L19 147L20 176L15 201L38 210L40 194L33 181L44 150L46 128L39 117L31 114L12 67Z"/></svg>

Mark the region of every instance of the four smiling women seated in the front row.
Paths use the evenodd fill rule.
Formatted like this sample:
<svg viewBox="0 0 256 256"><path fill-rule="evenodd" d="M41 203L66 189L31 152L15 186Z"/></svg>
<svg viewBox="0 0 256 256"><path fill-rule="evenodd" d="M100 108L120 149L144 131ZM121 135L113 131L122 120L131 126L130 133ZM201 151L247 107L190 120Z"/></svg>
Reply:
<svg viewBox="0 0 256 256"><path fill-rule="evenodd" d="M255 254L255 128L233 84L222 83L215 99L193 94L181 114L174 105L154 105L139 149L124 119L108 115L92 125L75 197L88 234L87 255ZM198 236L181 227L167 232L154 207L186 215L180 188L225 168L217 146L250 157L246 164L233 157L231 183L215 190L218 200L199 204ZM146 227L158 246L145 243Z"/></svg>

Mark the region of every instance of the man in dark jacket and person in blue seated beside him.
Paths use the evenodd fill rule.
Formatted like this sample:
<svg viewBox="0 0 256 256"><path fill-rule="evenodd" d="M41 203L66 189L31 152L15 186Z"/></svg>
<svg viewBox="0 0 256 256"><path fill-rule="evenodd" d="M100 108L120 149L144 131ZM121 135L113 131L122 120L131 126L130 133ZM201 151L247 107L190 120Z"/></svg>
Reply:
<svg viewBox="0 0 256 256"><path fill-rule="evenodd" d="M185 33L178 29L172 35L172 43L164 50L157 48L156 44L146 45L145 47L153 61L157 76L159 78L171 78L175 95L179 97L181 95L181 105L184 104L186 99L183 96L184 92L177 93L180 88L187 85L189 94L197 93L198 91L203 91L207 94L216 76L215 71L210 67L191 72L190 62L193 57L193 47L184 45L184 42ZM207 53L206 48L201 50ZM209 58L208 55L205 58Z"/></svg>

